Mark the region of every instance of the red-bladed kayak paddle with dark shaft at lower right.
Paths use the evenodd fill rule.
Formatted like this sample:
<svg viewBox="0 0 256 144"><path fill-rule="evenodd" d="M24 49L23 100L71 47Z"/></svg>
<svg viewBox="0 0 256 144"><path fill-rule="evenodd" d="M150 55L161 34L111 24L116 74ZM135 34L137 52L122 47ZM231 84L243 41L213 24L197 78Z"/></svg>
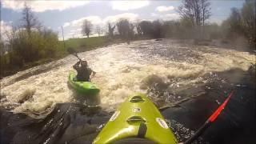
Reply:
<svg viewBox="0 0 256 144"><path fill-rule="evenodd" d="M218 106L218 109L214 111L214 114L210 116L210 118L207 119L207 121L198 129L198 131L192 135L190 138L188 138L184 144L189 144L191 142L194 142L196 138L201 135L206 128L208 128L215 120L218 118L218 115L221 114L222 110L224 110L227 102L229 102L231 95L233 94L233 91L229 94L229 96L226 98L226 100L222 103L221 106Z"/></svg>

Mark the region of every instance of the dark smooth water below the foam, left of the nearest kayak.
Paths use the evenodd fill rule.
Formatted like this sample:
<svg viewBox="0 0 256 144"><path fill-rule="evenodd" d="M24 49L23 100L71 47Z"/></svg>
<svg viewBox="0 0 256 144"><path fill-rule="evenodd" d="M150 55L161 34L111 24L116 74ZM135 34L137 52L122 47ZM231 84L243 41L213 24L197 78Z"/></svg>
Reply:
<svg viewBox="0 0 256 144"><path fill-rule="evenodd" d="M110 114L74 104L57 104L42 119L1 111L1 143L84 143L93 142L98 127Z"/></svg>

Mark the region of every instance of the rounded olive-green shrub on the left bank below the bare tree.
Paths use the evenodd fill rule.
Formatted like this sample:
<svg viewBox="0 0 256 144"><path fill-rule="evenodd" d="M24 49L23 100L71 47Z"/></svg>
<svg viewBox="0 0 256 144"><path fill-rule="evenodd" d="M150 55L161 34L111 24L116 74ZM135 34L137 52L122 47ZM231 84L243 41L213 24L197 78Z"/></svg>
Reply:
<svg viewBox="0 0 256 144"><path fill-rule="evenodd" d="M18 30L12 35L10 48L21 57L21 61L34 62L42 58L53 58L58 50L58 35L51 30Z"/></svg>

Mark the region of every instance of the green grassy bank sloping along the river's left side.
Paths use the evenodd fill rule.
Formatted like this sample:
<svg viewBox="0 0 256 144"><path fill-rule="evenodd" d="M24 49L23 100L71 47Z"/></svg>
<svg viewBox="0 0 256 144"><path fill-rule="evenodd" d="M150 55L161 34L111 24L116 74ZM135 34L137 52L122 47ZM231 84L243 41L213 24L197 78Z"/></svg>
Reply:
<svg viewBox="0 0 256 144"><path fill-rule="evenodd" d="M108 38L106 36L93 37L93 38L70 38L64 43L62 41L58 42L58 50L51 58L41 58L34 62L25 62L22 66L11 65L12 59L15 58L14 54L8 53L1 55L1 78L6 77L11 74L15 74L20 70L26 70L33 66L38 66L47 62L52 62L58 60L59 58L64 58L68 55L67 48L72 47L78 52L94 50L98 47L108 46L114 43L126 42L120 38Z"/></svg>

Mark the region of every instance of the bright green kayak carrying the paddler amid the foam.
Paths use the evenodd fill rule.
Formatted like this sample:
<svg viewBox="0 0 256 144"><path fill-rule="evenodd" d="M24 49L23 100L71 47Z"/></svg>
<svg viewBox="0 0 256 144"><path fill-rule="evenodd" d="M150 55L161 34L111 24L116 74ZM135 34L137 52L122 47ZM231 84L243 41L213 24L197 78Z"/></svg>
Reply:
<svg viewBox="0 0 256 144"><path fill-rule="evenodd" d="M95 95L99 93L100 90L92 82L77 82L77 81L74 81L74 79L75 79L75 73L70 72L69 74L70 86L72 86L73 89L79 94Z"/></svg>

